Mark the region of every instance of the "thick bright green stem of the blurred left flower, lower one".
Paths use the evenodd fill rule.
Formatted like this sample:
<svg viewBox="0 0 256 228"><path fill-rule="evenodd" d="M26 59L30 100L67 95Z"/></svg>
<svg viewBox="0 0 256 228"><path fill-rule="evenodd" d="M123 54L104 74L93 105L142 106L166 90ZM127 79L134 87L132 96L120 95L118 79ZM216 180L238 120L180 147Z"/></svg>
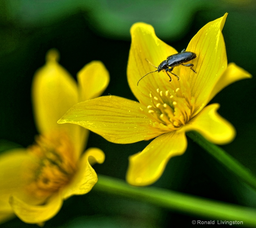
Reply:
<svg viewBox="0 0 256 228"><path fill-rule="evenodd" d="M98 183L93 190L148 202L173 211L222 221L243 221L243 226L256 226L256 209L220 201L208 200L184 193L156 187L134 187L124 181L98 175ZM192 221L191 221L192 222ZM197 221L196 221L197 222Z"/></svg>

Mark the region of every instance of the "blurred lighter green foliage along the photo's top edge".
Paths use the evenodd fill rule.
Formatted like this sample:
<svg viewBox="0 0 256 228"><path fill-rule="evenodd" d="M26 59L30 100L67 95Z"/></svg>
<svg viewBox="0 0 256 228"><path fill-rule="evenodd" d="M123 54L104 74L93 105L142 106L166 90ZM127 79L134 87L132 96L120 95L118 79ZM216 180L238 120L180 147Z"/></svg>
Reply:
<svg viewBox="0 0 256 228"><path fill-rule="evenodd" d="M8 38L5 51L23 43L24 32L47 28L77 13L84 15L90 29L102 36L128 40L131 25L143 21L153 25L159 37L177 40L188 31L198 10L216 6L222 10L255 9L252 0L2 0L0 4L1 22L16 27L2 30L2 36Z"/></svg>

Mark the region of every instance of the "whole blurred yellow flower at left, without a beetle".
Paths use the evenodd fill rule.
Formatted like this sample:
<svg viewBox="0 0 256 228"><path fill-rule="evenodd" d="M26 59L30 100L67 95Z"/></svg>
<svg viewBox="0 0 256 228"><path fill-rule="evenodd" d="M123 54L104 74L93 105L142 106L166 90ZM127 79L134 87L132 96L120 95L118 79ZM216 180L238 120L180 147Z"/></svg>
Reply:
<svg viewBox="0 0 256 228"><path fill-rule="evenodd" d="M82 154L88 130L57 121L77 102L99 96L108 85L108 71L92 61L78 72L76 84L58 56L54 49L46 54L32 84L41 135L28 149L0 156L0 221L14 213L26 223L42 224L58 213L63 200L88 193L98 180L92 164L105 160L103 151L90 148Z"/></svg>

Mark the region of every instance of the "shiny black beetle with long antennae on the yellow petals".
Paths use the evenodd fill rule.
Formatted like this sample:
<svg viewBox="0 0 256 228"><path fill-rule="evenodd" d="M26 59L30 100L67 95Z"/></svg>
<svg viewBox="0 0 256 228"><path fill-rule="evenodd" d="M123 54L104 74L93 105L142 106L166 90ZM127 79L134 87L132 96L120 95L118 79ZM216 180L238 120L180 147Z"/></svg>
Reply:
<svg viewBox="0 0 256 228"><path fill-rule="evenodd" d="M182 64L182 63L186 63L186 62L188 62L192 59L195 59L195 58L196 58L196 54L194 52L185 51L185 49L183 49L180 53L168 56L166 58L166 60L164 60L163 62L161 62L158 65L158 67L154 66L151 62L148 61L148 59L146 59L148 61L148 63L150 63L153 67L157 68L157 70L148 72L146 75L148 75L150 73L154 73L156 71L159 73L161 70L165 70L166 74L170 78L169 82L171 82L172 78L167 72L170 72L172 75L175 75L175 74L172 73L172 70L173 70L174 67L177 67L177 66L180 66L180 65L185 66L185 67L190 67L190 69L194 73L196 73L196 71L192 68L192 67L194 67L194 64L192 64L192 63ZM144 75L142 78L144 78L146 75ZM180 80L180 77L178 75L175 75L175 76L178 78L178 80ZM142 78L140 78L140 80ZM138 81L137 86L139 85L140 80Z"/></svg>

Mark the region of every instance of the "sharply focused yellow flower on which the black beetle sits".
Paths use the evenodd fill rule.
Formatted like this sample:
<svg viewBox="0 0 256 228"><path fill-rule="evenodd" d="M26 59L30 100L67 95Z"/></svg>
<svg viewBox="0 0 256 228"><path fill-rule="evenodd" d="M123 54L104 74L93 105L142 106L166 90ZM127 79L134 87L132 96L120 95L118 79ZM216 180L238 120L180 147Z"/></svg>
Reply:
<svg viewBox="0 0 256 228"><path fill-rule="evenodd" d="M73 106L59 123L76 123L114 143L134 143L155 138L142 152L129 158L127 181L131 185L149 185L163 173L173 156L187 148L186 131L196 130L216 144L235 137L234 127L217 110L219 104L206 106L224 87L251 75L234 63L227 64L221 30L227 14L209 22L192 38L186 51L197 58L190 67L176 66L172 82L166 72L155 72L145 59L160 64L177 51L158 39L152 26L136 23L131 28L132 44L127 76L139 102L105 96ZM170 73L169 73L170 74ZM97 110L97 115L92 115Z"/></svg>

